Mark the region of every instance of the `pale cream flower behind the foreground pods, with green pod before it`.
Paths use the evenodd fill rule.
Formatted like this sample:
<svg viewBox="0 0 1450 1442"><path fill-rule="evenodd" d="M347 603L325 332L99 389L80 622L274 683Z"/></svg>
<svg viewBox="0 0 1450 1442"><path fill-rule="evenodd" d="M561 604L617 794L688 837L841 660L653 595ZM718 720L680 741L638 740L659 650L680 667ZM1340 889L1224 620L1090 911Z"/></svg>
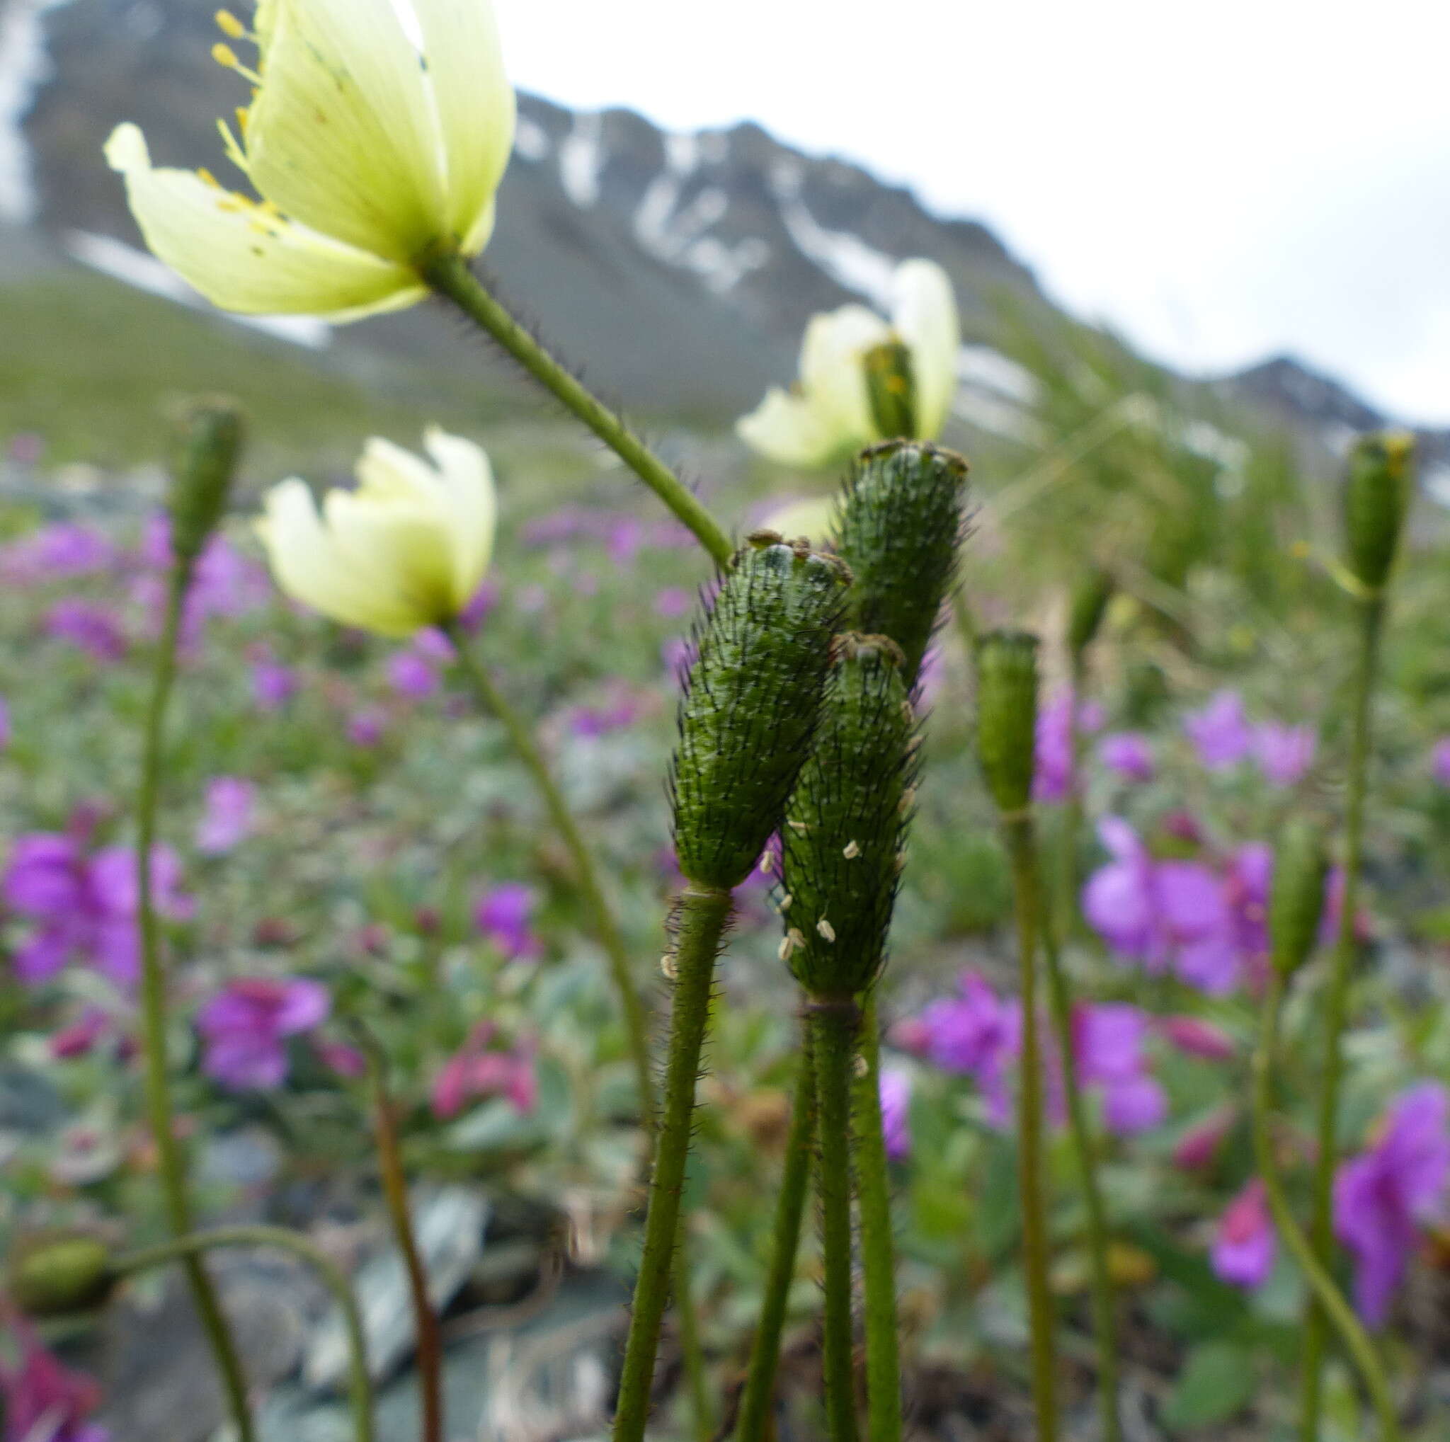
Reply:
<svg viewBox="0 0 1450 1442"><path fill-rule="evenodd" d="M911 355L915 441L934 441L957 390L961 330L947 272L934 261L903 261L892 278L892 319L864 306L812 317L800 346L800 378L773 388L735 429L761 455L783 465L829 465L873 441L890 441L876 423L866 355L899 342Z"/></svg>

